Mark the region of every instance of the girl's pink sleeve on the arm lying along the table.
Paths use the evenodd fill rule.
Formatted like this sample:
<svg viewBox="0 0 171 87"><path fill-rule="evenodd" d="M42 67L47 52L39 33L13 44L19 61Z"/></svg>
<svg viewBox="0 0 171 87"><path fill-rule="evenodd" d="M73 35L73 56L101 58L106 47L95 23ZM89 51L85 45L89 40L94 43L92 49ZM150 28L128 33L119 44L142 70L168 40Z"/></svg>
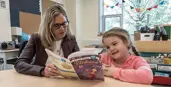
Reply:
<svg viewBox="0 0 171 87"><path fill-rule="evenodd" d="M113 77L125 82L151 84L153 81L153 73L147 62L140 58L135 63L135 67L136 69L115 68Z"/></svg>

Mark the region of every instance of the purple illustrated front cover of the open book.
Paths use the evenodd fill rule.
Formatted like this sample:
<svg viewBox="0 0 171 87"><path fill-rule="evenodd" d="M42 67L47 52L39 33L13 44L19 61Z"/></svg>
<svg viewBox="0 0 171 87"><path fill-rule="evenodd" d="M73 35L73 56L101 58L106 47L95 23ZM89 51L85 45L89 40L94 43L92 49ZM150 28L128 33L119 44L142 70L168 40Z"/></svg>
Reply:
<svg viewBox="0 0 171 87"><path fill-rule="evenodd" d="M71 64L80 79L104 80L102 63L97 55L73 57Z"/></svg>

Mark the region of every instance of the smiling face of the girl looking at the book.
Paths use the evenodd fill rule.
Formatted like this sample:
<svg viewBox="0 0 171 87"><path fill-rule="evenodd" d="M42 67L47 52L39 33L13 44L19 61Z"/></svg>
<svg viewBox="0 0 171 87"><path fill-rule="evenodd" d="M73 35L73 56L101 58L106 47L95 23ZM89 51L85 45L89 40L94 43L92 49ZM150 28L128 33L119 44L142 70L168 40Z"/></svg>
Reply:
<svg viewBox="0 0 171 87"><path fill-rule="evenodd" d="M115 60L125 59L129 55L128 43L118 36L109 36L103 39L108 55Z"/></svg>

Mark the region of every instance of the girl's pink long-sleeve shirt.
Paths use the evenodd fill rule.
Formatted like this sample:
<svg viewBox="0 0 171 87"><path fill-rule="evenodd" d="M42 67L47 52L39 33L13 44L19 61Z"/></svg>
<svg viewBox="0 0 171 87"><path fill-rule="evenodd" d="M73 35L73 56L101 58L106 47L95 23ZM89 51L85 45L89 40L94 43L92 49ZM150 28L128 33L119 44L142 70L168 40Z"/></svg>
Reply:
<svg viewBox="0 0 171 87"><path fill-rule="evenodd" d="M107 53L101 54L103 64L114 65L113 78L125 82L151 84L153 73L149 64L139 56L130 55L123 64L117 64Z"/></svg>

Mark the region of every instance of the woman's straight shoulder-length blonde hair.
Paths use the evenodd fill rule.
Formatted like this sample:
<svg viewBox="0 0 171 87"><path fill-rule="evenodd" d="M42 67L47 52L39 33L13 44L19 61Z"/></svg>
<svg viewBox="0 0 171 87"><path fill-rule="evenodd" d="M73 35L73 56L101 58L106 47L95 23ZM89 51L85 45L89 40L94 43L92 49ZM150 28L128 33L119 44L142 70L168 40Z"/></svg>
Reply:
<svg viewBox="0 0 171 87"><path fill-rule="evenodd" d="M55 4L49 7L41 18L38 34L45 48L51 46L52 43L56 40L56 38L52 33L52 26L55 22L55 17L60 14L63 14L68 21L68 17L64 7L60 4ZM70 38L71 36L72 36L71 30L68 25L65 37Z"/></svg>

